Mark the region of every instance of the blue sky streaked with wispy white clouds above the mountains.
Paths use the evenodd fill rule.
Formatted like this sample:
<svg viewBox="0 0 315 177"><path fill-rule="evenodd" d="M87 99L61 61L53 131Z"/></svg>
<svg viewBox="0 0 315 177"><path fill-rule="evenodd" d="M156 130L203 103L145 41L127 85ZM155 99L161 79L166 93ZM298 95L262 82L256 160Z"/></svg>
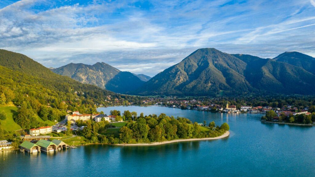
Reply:
<svg viewBox="0 0 315 177"><path fill-rule="evenodd" d="M0 0L0 49L154 76L199 48L315 57L315 0Z"/></svg>

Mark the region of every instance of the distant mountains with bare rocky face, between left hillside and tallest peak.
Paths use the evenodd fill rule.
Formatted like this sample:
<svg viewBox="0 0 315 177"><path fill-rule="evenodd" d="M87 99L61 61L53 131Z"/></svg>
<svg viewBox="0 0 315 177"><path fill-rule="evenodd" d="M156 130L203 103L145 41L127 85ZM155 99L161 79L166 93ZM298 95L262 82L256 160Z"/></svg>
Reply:
<svg viewBox="0 0 315 177"><path fill-rule="evenodd" d="M81 83L93 84L116 93L125 93L134 90L149 79L149 76L146 75L136 75L131 72L119 71L104 62L98 62L94 65L70 63L51 70L57 74L71 77ZM126 82L128 82L128 85Z"/></svg>

